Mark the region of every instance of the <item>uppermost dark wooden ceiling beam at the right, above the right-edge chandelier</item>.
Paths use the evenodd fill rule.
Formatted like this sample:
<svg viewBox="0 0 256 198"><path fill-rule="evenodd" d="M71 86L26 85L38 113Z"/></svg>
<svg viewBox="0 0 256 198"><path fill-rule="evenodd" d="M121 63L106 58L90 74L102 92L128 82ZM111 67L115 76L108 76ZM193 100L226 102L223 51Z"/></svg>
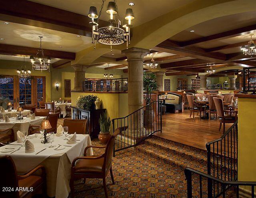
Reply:
<svg viewBox="0 0 256 198"><path fill-rule="evenodd" d="M235 36L250 34L252 30L256 30L256 24L251 25L251 26L242 27L242 28L237 28L234 30L229 30L226 32L221 32L218 34L212 34L210 36L205 36L202 38L196 38L193 40L180 42L180 46L190 46L193 44L202 43L202 42L206 42L206 41L210 41L210 40L223 40L226 38L232 38Z"/></svg>

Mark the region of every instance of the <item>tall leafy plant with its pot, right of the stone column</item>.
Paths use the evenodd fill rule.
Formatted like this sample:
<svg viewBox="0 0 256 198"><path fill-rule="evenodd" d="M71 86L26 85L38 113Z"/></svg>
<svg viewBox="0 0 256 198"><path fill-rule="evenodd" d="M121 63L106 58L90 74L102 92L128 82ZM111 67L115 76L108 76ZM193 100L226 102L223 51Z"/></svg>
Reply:
<svg viewBox="0 0 256 198"><path fill-rule="evenodd" d="M150 105L151 94L156 91L158 84L156 82L156 74L146 73L143 74L143 91L146 92L144 99L146 100L146 109L144 110L144 125L150 127L151 121L154 120L154 111Z"/></svg>

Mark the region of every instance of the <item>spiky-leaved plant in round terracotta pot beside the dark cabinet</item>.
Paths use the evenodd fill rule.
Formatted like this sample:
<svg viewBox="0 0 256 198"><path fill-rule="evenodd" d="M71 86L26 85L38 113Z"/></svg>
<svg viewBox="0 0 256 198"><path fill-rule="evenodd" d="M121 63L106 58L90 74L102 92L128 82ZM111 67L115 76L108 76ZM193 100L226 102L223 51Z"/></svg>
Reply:
<svg viewBox="0 0 256 198"><path fill-rule="evenodd" d="M106 112L100 115L99 124L100 124L100 134L98 138L100 142L107 143L109 138L111 137L109 132L111 121L110 121L110 118L108 118Z"/></svg>

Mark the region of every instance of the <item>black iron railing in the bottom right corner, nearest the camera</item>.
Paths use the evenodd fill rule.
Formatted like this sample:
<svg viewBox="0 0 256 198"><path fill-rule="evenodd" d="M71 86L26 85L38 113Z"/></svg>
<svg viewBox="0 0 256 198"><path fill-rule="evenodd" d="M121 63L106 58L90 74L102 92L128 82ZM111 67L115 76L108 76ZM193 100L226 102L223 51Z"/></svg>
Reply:
<svg viewBox="0 0 256 198"><path fill-rule="evenodd" d="M229 195L228 197L239 198L239 186L251 186L250 195L252 198L255 197L254 187L256 186L256 182L224 181L191 168L186 168L184 171L187 180L188 198L225 198L227 193ZM213 188L216 184L221 186L218 194L216 194Z"/></svg>

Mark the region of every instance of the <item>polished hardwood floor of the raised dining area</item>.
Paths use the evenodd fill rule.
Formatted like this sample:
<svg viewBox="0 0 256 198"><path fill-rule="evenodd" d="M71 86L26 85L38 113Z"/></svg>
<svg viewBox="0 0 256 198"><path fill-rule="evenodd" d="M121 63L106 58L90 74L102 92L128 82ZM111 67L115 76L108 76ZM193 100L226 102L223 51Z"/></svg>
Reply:
<svg viewBox="0 0 256 198"><path fill-rule="evenodd" d="M206 143L216 140L222 136L222 130L219 131L219 122L217 120L203 120L195 114L195 118L189 118L190 111L185 110L182 113L165 114L162 116L162 133L156 132L154 135L206 150ZM226 130L232 124L226 124ZM222 126L223 127L223 126Z"/></svg>

